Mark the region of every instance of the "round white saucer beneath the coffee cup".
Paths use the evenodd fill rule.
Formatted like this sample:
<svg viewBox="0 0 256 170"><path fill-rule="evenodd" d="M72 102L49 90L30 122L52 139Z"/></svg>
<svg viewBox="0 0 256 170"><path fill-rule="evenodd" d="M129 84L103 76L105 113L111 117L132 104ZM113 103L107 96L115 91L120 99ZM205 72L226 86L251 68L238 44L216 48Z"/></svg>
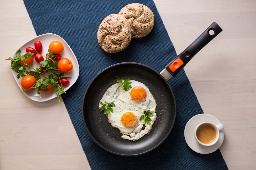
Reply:
<svg viewBox="0 0 256 170"><path fill-rule="evenodd" d="M186 124L185 130L184 130L184 136L185 140L188 144L188 146L195 152L201 153L201 154L208 154L216 151L221 146L223 140L224 140L224 129L220 130L220 137L219 140L212 146L202 146L200 145L194 136L194 131L196 126L201 122L211 122L215 125L220 124L220 121L210 115L210 114L198 114L192 117Z"/></svg>

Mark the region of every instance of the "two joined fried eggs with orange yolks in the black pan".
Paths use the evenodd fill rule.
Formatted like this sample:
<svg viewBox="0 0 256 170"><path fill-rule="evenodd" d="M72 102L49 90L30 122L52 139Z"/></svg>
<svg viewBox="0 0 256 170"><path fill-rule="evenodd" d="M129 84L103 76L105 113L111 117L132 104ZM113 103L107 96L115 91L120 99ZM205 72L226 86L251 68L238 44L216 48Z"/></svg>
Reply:
<svg viewBox="0 0 256 170"><path fill-rule="evenodd" d="M131 88L125 91L121 83L115 83L104 93L100 102L113 102L115 107L113 112L106 114L112 127L118 128L123 139L137 140L150 132L156 120L156 101L148 87L138 81L131 80ZM117 90L117 91L116 91ZM99 108L102 106L99 102ZM150 125L145 123L145 119L140 121L141 115L150 110ZM144 128L143 128L144 127Z"/></svg>

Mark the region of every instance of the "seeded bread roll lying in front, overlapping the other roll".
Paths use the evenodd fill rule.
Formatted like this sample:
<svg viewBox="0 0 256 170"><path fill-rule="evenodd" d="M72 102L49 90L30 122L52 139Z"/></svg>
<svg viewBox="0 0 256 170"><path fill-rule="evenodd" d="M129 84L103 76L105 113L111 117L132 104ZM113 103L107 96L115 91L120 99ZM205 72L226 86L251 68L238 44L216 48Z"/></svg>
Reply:
<svg viewBox="0 0 256 170"><path fill-rule="evenodd" d="M111 14L101 22L97 33L101 48L108 53L124 50L131 42L131 25L119 14Z"/></svg>

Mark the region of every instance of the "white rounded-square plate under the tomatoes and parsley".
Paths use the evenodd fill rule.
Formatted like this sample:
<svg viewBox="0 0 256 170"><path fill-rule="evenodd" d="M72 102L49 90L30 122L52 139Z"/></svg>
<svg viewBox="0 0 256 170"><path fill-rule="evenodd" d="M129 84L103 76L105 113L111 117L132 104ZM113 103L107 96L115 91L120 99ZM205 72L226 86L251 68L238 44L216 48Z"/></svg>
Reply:
<svg viewBox="0 0 256 170"><path fill-rule="evenodd" d="M24 45L22 45L19 48L20 51L21 51L20 55L23 55L23 54L27 53L26 52L26 48L27 47L32 47L32 48L35 49L35 45L34 45L35 41L40 41L42 43L43 50L42 50L41 54L43 56L46 56L46 54L48 53L48 48L49 48L49 45L50 45L50 43L52 41L59 41L59 42L61 42L63 44L64 51L63 51L63 53L60 56L61 56L61 58L68 58L68 59L70 59L72 64L73 64L73 70L70 73L64 74L64 76L63 76L63 77L72 77L71 79L69 79L69 81L70 81L69 84L66 85L66 86L63 86L64 91L67 91L77 81L78 75L79 75L79 65L78 65L78 62L77 62L77 58L74 55L72 49L69 47L67 42L65 40L63 40L63 38L61 38L59 35L52 34L52 33L47 33L47 34L42 34L42 35L39 35L39 36L37 36L35 38L32 38L31 40L26 42ZM16 52L15 52L13 57L15 57L15 56L16 56ZM33 64L32 64L32 67L36 68L36 66L38 66L38 68L39 68L40 64L37 63L34 60ZM26 69L29 70L28 67L26 67ZM12 72L13 72L14 79L16 80L18 86L23 91L23 88L20 85L22 77L17 79L17 73L14 70L12 70ZM31 100L40 101L40 102L48 101L48 100L51 100L51 99L57 97L57 95L55 94L54 91L52 91L49 94L43 94L43 93L37 94L36 89L33 89L31 91L24 91L22 93L24 93ZM68 93L68 92L66 92L66 93Z"/></svg>

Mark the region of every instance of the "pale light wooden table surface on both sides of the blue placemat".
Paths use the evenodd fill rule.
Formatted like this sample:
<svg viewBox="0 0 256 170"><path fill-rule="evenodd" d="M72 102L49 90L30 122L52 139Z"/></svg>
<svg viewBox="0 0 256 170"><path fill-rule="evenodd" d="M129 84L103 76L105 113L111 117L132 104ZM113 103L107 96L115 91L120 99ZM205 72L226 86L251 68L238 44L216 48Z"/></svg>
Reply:
<svg viewBox="0 0 256 170"><path fill-rule="evenodd" d="M223 31L185 71L204 113L225 125L220 147L229 169L256 168L256 1L155 0L177 53L212 22ZM0 169L90 169L63 102L20 94L10 62L35 37L22 0L0 5ZM68 138L67 138L68 136Z"/></svg>

